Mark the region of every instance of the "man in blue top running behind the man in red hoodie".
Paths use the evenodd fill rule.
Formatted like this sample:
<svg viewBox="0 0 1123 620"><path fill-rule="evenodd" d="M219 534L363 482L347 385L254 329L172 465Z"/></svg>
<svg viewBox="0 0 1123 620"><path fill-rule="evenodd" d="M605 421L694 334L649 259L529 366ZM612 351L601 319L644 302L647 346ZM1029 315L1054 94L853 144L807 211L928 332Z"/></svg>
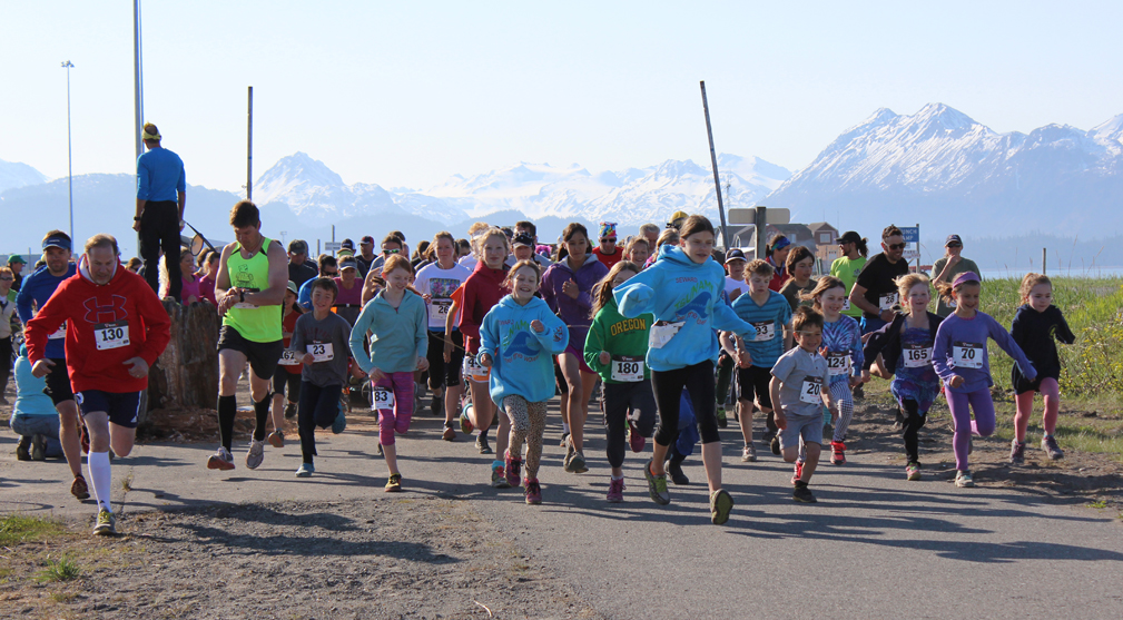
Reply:
<svg viewBox="0 0 1123 620"><path fill-rule="evenodd" d="M60 284L77 273L77 267L71 263L71 238L62 230L52 230L43 238L43 255L47 264L35 270L24 281L24 286L16 297L16 308L19 320L27 325L35 317L35 309L42 309ZM155 294L155 293L154 293ZM47 338L43 355L51 372L46 375L51 402L58 410L58 439L63 444L66 464L74 474L71 493L79 500L90 496L90 489L82 476L82 439L81 423L77 416L77 403L71 390L70 376L66 374L66 325L63 323ZM38 376L38 375L37 375Z"/></svg>

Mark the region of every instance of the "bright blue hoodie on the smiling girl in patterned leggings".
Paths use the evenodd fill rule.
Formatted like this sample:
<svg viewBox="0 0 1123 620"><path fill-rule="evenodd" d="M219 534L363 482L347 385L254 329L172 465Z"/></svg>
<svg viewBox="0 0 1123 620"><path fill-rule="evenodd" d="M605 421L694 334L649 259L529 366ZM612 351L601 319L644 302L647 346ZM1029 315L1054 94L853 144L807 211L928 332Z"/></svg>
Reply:
<svg viewBox="0 0 1123 620"><path fill-rule="evenodd" d="M538 319L546 330L538 334L530 322ZM491 354L491 394L495 404L519 395L528 402L554 398L554 355L569 344L569 330L539 298L519 306L506 295L484 317L480 353Z"/></svg>

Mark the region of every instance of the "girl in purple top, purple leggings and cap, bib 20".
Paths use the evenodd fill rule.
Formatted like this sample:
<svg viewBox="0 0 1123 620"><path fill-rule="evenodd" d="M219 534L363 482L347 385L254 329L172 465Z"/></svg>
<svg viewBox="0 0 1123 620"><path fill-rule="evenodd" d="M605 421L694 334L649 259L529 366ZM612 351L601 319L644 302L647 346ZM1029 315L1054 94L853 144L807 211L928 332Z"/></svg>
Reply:
<svg viewBox="0 0 1123 620"><path fill-rule="evenodd" d="M978 311L982 288L975 272L959 274L951 284L938 284L940 294L956 302L955 313L943 319L935 332L932 365L943 380L943 394L955 421L956 486L960 487L975 486L967 468L971 434L988 437L994 432L994 401L990 400L994 380L990 379L987 338L1014 358L1029 381L1038 376L1010 332L989 314Z"/></svg>

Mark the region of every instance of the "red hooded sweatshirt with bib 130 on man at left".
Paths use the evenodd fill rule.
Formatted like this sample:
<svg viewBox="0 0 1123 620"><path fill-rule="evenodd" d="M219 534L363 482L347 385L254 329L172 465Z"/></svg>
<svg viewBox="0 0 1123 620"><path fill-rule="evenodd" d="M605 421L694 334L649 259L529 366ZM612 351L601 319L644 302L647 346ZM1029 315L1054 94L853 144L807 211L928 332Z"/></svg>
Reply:
<svg viewBox="0 0 1123 620"><path fill-rule="evenodd" d="M152 366L171 339L171 319L143 277L120 263L104 285L90 279L85 256L77 273L63 281L27 323L27 355L43 359L47 336L66 327L66 370L75 392L138 392L148 377L135 377L125 364L140 357Z"/></svg>

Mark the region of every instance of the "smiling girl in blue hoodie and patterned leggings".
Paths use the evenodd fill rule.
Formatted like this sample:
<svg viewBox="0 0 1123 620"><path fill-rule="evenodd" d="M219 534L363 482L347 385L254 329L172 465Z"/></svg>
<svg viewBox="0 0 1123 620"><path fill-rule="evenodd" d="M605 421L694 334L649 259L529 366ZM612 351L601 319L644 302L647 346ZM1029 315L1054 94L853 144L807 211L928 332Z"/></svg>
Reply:
<svg viewBox="0 0 1123 620"><path fill-rule="evenodd" d="M527 503L542 503L538 464L546 430L546 403L554 398L553 356L569 344L569 330L545 301L535 297L541 272L533 261L520 261L508 274L511 294L484 317L480 363L491 370L491 396L511 419L504 462L508 484L518 486L522 444L527 444L523 478Z"/></svg>

